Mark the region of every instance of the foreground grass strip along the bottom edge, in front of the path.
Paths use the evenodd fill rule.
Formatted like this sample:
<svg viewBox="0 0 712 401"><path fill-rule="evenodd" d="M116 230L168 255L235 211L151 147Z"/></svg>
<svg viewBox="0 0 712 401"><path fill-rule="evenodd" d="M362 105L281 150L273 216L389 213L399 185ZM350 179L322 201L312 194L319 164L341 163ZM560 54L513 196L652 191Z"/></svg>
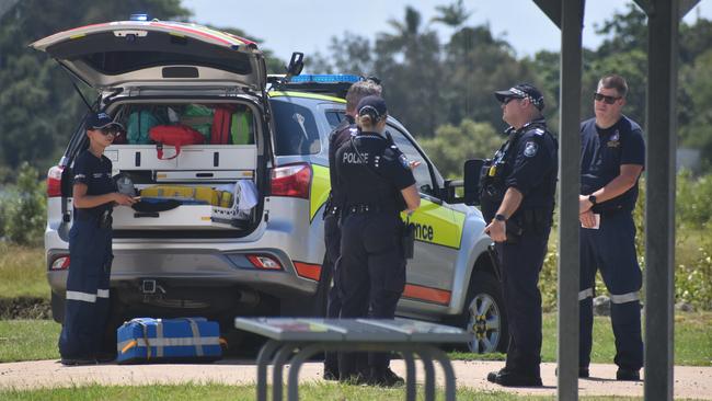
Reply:
<svg viewBox="0 0 712 401"><path fill-rule="evenodd" d="M319 401L400 401L404 390L357 387L336 383L305 383L299 386L300 400ZM423 394L423 389L418 390ZM140 387L76 387L33 391L0 391L2 400L254 400L254 386L180 385ZM439 399L444 394L440 392ZM505 392L482 392L458 389L458 400L552 400L552 397L521 397ZM582 397L582 400L640 400L640 398Z"/></svg>

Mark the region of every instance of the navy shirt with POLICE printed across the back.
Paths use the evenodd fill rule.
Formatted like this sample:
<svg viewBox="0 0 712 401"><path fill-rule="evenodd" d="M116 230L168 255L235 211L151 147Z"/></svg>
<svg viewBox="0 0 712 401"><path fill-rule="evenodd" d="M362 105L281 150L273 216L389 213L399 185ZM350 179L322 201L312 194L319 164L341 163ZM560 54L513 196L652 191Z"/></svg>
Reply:
<svg viewBox="0 0 712 401"><path fill-rule="evenodd" d="M375 133L359 133L338 148L336 179L346 207L368 205L393 213L405 209L401 190L415 184L405 156Z"/></svg>

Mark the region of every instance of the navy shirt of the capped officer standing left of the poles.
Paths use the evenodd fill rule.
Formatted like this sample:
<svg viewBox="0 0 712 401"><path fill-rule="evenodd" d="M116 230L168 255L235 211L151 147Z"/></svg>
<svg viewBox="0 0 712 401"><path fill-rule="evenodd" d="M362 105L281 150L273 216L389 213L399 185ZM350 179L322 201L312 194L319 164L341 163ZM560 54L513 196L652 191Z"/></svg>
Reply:
<svg viewBox="0 0 712 401"><path fill-rule="evenodd" d="M543 118L525 124L510 135L518 136L508 150L505 186L524 195L519 209L553 209L559 171L558 145L547 131Z"/></svg>

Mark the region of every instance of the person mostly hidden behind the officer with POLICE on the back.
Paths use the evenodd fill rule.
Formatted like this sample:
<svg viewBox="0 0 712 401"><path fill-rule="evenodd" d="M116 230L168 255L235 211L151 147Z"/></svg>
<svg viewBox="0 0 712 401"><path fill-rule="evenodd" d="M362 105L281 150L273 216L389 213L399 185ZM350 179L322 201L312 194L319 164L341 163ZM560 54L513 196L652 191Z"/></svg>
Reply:
<svg viewBox="0 0 712 401"><path fill-rule="evenodd" d="M326 277L332 276L334 286L329 289L329 301L326 303L326 317L338 318L341 313L341 299L338 298L338 277L335 272L335 264L341 255L341 228L338 220L341 219L341 210L343 204L342 191L336 181L336 150L348 141L353 135L356 135L356 106L363 98L368 95L380 95L381 85L372 80L358 81L348 88L346 92L346 115L345 118L338 124L336 128L329 136L329 171L331 180L331 192L329 193L329 200L324 208L324 245L326 254L324 263L322 264L322 273L320 280L324 283ZM338 362L336 353L328 352L324 357L324 375L325 380L338 380Z"/></svg>

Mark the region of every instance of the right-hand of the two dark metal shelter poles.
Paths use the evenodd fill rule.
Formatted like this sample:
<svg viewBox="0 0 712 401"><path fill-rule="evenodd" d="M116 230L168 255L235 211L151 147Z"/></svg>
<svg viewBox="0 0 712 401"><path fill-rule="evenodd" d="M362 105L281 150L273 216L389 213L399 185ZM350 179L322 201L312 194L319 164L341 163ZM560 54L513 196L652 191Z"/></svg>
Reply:
<svg viewBox="0 0 712 401"><path fill-rule="evenodd" d="M678 0L648 2L645 400L673 400Z"/></svg>

